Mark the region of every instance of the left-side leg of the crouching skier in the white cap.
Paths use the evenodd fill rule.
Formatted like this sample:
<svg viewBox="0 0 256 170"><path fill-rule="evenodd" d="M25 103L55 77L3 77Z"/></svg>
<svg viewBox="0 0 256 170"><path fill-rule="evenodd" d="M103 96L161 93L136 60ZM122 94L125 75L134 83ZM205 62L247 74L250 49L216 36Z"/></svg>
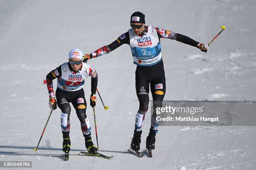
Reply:
<svg viewBox="0 0 256 170"><path fill-rule="evenodd" d="M70 130L70 122L69 116L71 112L71 107L69 105L69 100L66 94L61 92L60 90L56 90L56 100L57 105L61 110L61 130L63 134L63 148L62 150L65 153L69 153L71 142L69 139L69 130Z"/></svg>

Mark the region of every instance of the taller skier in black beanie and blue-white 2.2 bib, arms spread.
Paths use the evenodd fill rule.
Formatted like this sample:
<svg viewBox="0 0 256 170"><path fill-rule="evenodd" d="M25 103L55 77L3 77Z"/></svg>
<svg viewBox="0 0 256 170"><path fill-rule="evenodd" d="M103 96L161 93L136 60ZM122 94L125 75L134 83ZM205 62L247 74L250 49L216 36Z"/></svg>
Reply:
<svg viewBox="0 0 256 170"><path fill-rule="evenodd" d="M123 44L130 45L133 55L133 63L137 65L135 72L136 93L140 102L138 112L136 113L135 130L131 140L131 149L138 151L140 150L141 143L141 128L145 114L148 110L149 88L151 89L154 101L154 110L156 110L156 107L161 107L166 90L160 38L177 40L197 47L204 52L207 52L208 46L170 30L156 28L152 25L146 26L145 15L141 12L135 12L131 15L130 25L131 29L120 35L120 37L110 45L101 47L90 53L90 55L84 55L83 62L105 55ZM155 149L155 136L158 132L158 125L159 123L152 117L151 128L148 137L146 138L146 148L148 150Z"/></svg>

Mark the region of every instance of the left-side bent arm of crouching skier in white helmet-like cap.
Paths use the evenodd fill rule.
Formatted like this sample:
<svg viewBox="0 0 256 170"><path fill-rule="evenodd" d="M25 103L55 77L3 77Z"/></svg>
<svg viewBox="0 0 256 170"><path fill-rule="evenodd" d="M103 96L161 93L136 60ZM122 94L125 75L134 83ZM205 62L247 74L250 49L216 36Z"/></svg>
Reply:
<svg viewBox="0 0 256 170"><path fill-rule="evenodd" d="M57 77L61 77L61 66L57 67L46 75L46 85L49 92L49 107L51 110L55 110L57 108L52 83L52 80Z"/></svg>

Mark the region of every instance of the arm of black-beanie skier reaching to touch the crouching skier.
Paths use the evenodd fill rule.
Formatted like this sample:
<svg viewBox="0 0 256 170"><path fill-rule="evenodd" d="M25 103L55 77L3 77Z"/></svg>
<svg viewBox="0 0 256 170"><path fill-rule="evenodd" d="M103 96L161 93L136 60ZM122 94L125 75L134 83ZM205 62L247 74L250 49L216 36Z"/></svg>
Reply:
<svg viewBox="0 0 256 170"><path fill-rule="evenodd" d="M120 35L120 37L118 37L118 39L112 42L110 45L105 45L90 54L84 55L83 62L95 57L99 57L104 54L108 54L109 52L115 50L123 44L130 44L130 36L128 32L125 32L124 34Z"/></svg>

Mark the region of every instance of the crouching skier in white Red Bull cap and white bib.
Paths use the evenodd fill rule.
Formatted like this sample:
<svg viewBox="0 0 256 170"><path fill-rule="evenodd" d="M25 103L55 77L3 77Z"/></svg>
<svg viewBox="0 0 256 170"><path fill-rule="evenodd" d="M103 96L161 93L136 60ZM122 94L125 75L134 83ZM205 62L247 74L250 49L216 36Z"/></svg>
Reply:
<svg viewBox="0 0 256 170"><path fill-rule="evenodd" d="M97 148L92 143L91 138L91 126L86 116L86 100L84 98L84 80L87 77L91 77L91 96L90 105L95 107L96 105L96 88L98 82L98 76L96 70L82 62L83 52L79 49L73 49L69 52L69 62L61 64L56 69L49 72L46 76L47 89L49 91L49 107L51 110L55 110L58 107L61 109L61 129L63 134L63 148L65 153L69 153L70 150L70 138L69 129L70 122L69 116L71 107L69 102L74 106L77 117L81 122L81 129L85 139L85 147L89 153L97 153ZM52 80L57 80L57 90L54 95ZM56 98L55 98L56 96Z"/></svg>

